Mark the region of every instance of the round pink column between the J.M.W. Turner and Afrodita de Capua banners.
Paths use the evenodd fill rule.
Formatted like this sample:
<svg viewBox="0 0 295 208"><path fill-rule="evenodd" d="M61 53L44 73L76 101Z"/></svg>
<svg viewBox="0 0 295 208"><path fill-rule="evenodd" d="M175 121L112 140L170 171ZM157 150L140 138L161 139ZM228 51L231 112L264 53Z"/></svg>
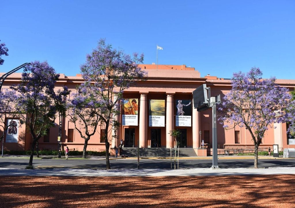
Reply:
<svg viewBox="0 0 295 208"><path fill-rule="evenodd" d="M170 130L174 129L174 111L173 111L173 95L174 93L167 93L166 103L166 148L174 147L173 137L170 135Z"/></svg>

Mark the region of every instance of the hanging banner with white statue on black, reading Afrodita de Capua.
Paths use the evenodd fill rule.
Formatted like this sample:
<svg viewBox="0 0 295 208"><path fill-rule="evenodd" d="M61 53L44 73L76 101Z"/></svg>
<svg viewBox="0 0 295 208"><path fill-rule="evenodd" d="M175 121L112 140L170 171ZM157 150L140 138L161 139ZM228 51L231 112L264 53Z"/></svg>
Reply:
<svg viewBox="0 0 295 208"><path fill-rule="evenodd" d="M191 126L191 100L176 100L176 126Z"/></svg>

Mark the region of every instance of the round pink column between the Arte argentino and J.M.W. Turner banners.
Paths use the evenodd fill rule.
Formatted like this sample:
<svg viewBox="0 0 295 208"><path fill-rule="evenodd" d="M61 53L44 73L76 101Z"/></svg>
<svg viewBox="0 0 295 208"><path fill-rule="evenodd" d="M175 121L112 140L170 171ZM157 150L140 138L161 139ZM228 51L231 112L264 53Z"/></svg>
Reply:
<svg viewBox="0 0 295 208"><path fill-rule="evenodd" d="M147 116L148 116L148 93L140 94L140 106L139 106L139 147L147 147Z"/></svg>

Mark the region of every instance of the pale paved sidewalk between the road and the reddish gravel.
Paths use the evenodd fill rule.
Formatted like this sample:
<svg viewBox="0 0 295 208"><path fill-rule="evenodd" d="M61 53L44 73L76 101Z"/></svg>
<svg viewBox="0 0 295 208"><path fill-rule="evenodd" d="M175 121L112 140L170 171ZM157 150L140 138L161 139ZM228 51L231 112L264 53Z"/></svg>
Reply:
<svg viewBox="0 0 295 208"><path fill-rule="evenodd" d="M275 175L295 174L295 167L270 168L191 168L191 169L8 169L0 168L0 175L14 176L201 176L201 175Z"/></svg>

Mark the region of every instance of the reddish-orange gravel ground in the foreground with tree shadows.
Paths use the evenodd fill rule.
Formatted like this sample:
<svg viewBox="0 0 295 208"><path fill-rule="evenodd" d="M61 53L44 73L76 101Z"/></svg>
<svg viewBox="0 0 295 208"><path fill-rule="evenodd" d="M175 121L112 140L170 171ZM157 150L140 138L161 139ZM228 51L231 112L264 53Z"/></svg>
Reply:
<svg viewBox="0 0 295 208"><path fill-rule="evenodd" d="M1 176L0 207L295 207L295 175Z"/></svg>

